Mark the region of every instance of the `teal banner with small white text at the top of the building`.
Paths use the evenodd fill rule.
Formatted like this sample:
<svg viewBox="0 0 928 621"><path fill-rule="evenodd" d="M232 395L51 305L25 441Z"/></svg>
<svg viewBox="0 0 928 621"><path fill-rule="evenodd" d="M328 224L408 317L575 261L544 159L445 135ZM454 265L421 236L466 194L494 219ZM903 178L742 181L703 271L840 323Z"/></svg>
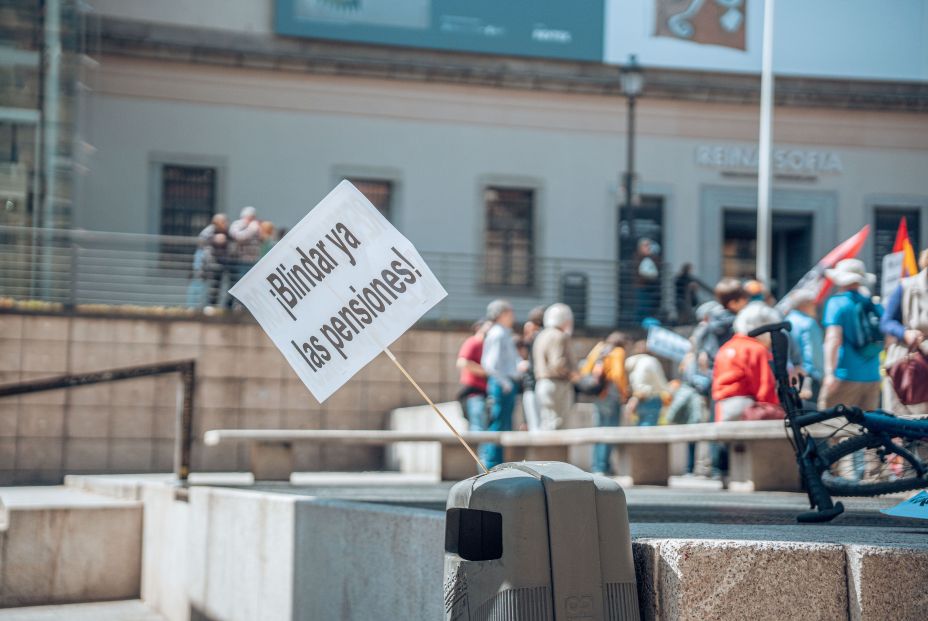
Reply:
<svg viewBox="0 0 928 621"><path fill-rule="evenodd" d="M604 0L277 0L278 34L602 62Z"/></svg>

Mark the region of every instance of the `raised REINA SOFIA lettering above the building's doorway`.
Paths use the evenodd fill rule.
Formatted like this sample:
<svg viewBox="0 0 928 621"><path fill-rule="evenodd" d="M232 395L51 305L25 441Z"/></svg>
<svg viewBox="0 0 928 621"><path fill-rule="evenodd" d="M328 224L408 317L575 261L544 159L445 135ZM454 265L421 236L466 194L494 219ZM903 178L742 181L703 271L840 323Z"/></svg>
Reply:
<svg viewBox="0 0 928 621"><path fill-rule="evenodd" d="M734 145L700 145L696 163L709 168L757 170L757 147ZM842 173L841 156L834 151L774 149L773 168L778 173Z"/></svg>

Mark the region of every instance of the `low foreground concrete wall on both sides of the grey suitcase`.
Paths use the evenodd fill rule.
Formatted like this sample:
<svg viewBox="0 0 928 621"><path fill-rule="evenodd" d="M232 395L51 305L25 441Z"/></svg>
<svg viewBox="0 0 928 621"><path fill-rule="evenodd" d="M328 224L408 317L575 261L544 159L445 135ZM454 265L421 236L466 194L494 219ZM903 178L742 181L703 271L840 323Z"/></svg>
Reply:
<svg viewBox="0 0 928 621"><path fill-rule="evenodd" d="M139 490L142 598L168 621L443 614L440 511L115 478L70 482ZM928 544L845 543L868 530L633 524L642 619L922 618Z"/></svg>

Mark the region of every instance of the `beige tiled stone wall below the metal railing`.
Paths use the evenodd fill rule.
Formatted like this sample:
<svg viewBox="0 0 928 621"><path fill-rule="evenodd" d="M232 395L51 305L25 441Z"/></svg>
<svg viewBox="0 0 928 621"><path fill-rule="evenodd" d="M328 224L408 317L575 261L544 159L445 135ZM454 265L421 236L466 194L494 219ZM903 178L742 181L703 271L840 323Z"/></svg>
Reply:
<svg viewBox="0 0 928 621"><path fill-rule="evenodd" d="M414 329L391 349L429 396L448 401L465 337ZM208 429L384 429L390 410L421 403L381 355L320 405L250 320L0 314L0 383L185 358L197 361L194 471L248 468L245 445L204 448ZM0 400L0 485L170 471L178 385L167 375ZM384 463L379 447L297 446L295 459L297 470Z"/></svg>

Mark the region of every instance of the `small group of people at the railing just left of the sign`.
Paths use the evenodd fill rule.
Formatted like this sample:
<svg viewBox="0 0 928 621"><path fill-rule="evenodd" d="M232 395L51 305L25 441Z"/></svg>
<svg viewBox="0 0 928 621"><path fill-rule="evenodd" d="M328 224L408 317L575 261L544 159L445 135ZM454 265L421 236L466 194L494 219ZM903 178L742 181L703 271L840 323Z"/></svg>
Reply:
<svg viewBox="0 0 928 621"><path fill-rule="evenodd" d="M193 256L193 279L188 289L188 305L209 313L231 309L235 303L228 294L239 279L283 237L269 220L259 220L254 207L245 207L231 224L224 213L198 235Z"/></svg>

